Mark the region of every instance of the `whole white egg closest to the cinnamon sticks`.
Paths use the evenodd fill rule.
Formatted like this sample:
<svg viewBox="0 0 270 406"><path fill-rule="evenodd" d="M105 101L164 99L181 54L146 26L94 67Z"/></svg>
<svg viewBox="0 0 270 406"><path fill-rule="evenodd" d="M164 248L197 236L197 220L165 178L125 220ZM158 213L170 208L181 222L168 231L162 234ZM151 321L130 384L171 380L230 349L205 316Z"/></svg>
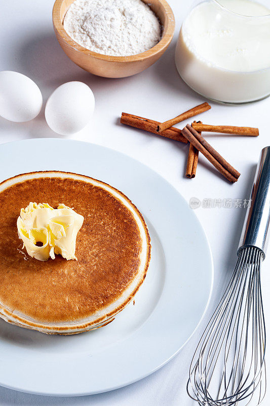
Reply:
<svg viewBox="0 0 270 406"><path fill-rule="evenodd" d="M89 86L82 82L67 82L48 98L45 118L53 131L67 136L89 123L94 108L95 97Z"/></svg>

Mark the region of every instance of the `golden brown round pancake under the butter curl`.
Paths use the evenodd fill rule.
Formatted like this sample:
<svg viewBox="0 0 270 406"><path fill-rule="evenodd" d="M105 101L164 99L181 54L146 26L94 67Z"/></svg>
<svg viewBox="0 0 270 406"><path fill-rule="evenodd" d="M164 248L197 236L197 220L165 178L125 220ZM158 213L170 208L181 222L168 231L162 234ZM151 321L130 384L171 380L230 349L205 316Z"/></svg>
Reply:
<svg viewBox="0 0 270 406"><path fill-rule="evenodd" d="M22 250L16 221L30 201L63 203L85 220L78 261L38 261ZM0 184L0 317L50 333L106 324L143 282L150 240L138 209L121 192L75 174L21 175Z"/></svg>

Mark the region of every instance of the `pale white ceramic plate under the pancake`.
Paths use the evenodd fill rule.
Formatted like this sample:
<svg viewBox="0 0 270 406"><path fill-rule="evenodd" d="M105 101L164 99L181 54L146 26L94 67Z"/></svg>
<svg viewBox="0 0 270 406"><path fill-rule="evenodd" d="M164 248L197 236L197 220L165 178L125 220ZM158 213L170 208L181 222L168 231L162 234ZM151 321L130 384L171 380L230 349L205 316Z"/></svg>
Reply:
<svg viewBox="0 0 270 406"><path fill-rule="evenodd" d="M209 244L183 197L142 163L79 141L3 144L0 162L1 182L60 170L111 184L141 211L152 245L135 306L130 303L106 327L50 336L0 320L0 385L46 395L105 392L144 378L176 355L197 328L213 282Z"/></svg>

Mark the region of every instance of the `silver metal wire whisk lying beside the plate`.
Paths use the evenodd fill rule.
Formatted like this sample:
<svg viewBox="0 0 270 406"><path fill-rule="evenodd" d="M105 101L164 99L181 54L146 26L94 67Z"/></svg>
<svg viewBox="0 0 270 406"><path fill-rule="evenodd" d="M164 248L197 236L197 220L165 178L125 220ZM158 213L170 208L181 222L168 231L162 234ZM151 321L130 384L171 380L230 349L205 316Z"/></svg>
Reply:
<svg viewBox="0 0 270 406"><path fill-rule="evenodd" d="M270 147L261 152L232 278L189 370L187 392L200 405L259 404L266 390L260 269L270 221Z"/></svg>

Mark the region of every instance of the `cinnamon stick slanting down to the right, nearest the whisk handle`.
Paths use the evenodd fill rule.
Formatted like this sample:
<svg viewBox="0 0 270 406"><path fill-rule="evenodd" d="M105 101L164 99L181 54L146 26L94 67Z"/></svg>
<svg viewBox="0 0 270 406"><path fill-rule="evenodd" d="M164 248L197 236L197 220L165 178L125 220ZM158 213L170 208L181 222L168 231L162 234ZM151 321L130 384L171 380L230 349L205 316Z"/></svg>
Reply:
<svg viewBox="0 0 270 406"><path fill-rule="evenodd" d="M211 147L191 125L187 124L186 127L182 129L182 134L229 182L237 182L240 173Z"/></svg>

